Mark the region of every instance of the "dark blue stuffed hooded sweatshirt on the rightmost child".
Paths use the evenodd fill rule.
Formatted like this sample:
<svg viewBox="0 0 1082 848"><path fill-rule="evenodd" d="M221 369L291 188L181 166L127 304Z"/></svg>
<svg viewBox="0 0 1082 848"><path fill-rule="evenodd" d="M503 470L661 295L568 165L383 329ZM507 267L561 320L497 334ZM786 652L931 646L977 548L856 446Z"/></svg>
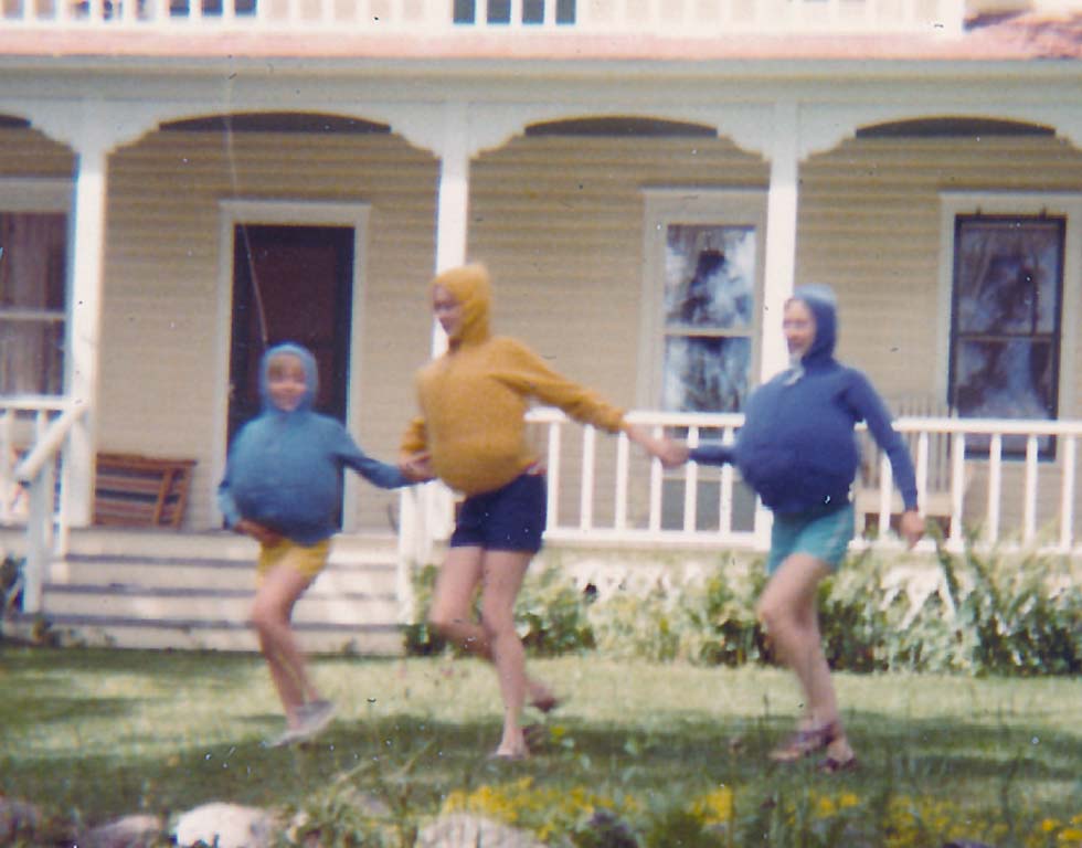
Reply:
<svg viewBox="0 0 1082 848"><path fill-rule="evenodd" d="M866 421L890 457L905 508L916 509L913 463L890 413L863 373L834 358L834 293L827 286L800 286L793 298L815 316L811 347L799 363L752 393L732 447L703 445L690 458L707 465L734 463L775 512L830 512L849 502L860 464L853 427Z"/></svg>

